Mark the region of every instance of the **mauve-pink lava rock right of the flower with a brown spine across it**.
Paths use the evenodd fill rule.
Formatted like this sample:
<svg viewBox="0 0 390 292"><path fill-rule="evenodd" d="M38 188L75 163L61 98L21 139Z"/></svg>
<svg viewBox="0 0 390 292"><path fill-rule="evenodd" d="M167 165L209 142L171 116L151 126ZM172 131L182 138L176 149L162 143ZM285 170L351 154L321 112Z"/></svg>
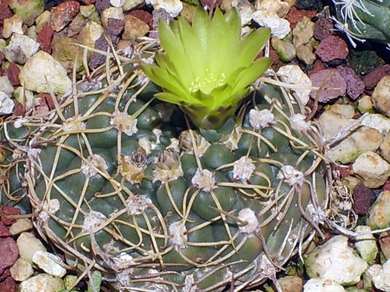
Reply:
<svg viewBox="0 0 390 292"><path fill-rule="evenodd" d="M329 81L325 84L324 90L320 92L319 102L327 103L328 101L337 98L341 95L345 94L347 90L347 83L345 82L343 76L341 76L340 72L337 69L325 69L314 73L310 76L310 80L312 80L312 85L316 87L320 87L323 82L329 77L330 74L333 74ZM326 88L338 88L338 89L326 89ZM317 91L312 90L310 92L310 96L315 98Z"/></svg>

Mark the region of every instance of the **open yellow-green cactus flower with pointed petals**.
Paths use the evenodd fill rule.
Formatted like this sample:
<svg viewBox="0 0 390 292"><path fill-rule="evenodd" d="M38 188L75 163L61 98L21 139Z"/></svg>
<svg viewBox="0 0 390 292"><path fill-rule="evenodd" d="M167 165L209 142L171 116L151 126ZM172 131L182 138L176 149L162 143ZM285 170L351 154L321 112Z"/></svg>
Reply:
<svg viewBox="0 0 390 292"><path fill-rule="evenodd" d="M259 28L241 39L241 19L235 9L213 18L195 10L192 25L184 18L160 20L158 33L165 53L156 64L141 69L164 92L156 98L178 105L200 128L219 128L238 108L251 85L272 64L258 53L271 30Z"/></svg>

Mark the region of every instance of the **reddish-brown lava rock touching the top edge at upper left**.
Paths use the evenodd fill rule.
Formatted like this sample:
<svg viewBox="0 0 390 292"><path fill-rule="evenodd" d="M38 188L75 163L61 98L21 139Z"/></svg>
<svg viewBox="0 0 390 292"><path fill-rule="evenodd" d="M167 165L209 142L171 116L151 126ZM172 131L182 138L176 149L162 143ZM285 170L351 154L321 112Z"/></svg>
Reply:
<svg viewBox="0 0 390 292"><path fill-rule="evenodd" d="M77 1L62 2L51 9L50 22L56 32L62 30L77 14L80 4Z"/></svg>

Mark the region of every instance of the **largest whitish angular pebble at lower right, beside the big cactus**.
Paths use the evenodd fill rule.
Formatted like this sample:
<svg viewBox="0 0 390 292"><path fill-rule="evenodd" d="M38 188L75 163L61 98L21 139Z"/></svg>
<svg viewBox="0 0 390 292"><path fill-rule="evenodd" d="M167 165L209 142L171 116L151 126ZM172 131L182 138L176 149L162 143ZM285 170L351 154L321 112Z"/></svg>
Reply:
<svg viewBox="0 0 390 292"><path fill-rule="evenodd" d="M305 267L311 278L329 279L350 286L360 281L368 264L348 246L348 237L338 235L314 248L305 260Z"/></svg>

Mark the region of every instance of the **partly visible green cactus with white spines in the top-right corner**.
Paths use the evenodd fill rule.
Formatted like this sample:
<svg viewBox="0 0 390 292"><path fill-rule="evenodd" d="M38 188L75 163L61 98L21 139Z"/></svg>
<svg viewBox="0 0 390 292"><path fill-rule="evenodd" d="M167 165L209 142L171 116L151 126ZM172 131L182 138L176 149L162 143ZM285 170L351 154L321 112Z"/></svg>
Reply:
<svg viewBox="0 0 390 292"><path fill-rule="evenodd" d="M390 43L389 0L332 0L336 18L335 27L344 32L353 47L355 40L372 39ZM390 48L390 46L389 46Z"/></svg>

